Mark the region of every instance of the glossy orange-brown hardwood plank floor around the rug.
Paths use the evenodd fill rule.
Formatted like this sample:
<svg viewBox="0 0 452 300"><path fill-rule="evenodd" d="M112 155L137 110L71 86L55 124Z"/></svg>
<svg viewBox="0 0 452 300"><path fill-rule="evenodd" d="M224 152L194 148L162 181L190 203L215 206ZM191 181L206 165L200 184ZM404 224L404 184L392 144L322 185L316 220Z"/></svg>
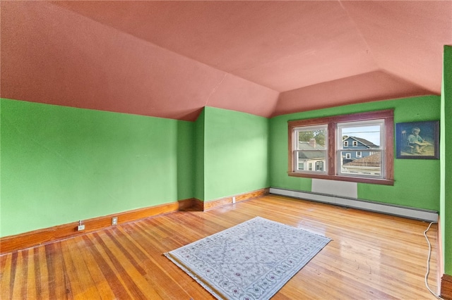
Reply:
<svg viewBox="0 0 452 300"><path fill-rule="evenodd" d="M333 239L273 299L435 299L424 285L429 223L275 195L4 254L0 298L213 299L162 254L257 215ZM434 224L434 292L436 235Z"/></svg>

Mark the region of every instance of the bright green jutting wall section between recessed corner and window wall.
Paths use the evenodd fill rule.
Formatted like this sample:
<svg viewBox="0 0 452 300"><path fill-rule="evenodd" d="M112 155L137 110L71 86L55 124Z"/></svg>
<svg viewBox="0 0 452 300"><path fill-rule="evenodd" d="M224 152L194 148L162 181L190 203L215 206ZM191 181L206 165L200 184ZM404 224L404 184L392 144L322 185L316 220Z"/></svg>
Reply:
<svg viewBox="0 0 452 300"><path fill-rule="evenodd" d="M268 187L268 118L204 110L205 200Z"/></svg>

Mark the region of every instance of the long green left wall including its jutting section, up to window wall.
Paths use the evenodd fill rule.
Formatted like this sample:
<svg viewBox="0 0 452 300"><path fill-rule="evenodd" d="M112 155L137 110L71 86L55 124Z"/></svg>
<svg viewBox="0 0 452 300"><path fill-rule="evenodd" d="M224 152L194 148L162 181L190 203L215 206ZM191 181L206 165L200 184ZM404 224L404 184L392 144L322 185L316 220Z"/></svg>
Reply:
<svg viewBox="0 0 452 300"><path fill-rule="evenodd" d="M1 99L0 236L269 186L267 118L195 123Z"/></svg>

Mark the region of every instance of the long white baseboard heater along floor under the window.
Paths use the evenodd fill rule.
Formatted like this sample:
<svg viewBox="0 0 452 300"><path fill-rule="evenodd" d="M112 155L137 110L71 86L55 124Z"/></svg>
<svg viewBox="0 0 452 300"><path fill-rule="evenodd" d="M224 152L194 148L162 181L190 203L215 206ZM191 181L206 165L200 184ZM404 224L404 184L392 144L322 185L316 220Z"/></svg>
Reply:
<svg viewBox="0 0 452 300"><path fill-rule="evenodd" d="M366 201L361 199L347 198L344 196L335 196L330 194L300 192L291 189L280 189L277 187L270 187L270 194L290 196L293 198L318 201L338 206L347 206L362 209L364 211L376 211L378 213L386 213L388 215L398 215L405 218L412 218L429 222L438 221L437 211L429 211L427 209L421 208L398 206L394 204L385 204L381 202Z"/></svg>

